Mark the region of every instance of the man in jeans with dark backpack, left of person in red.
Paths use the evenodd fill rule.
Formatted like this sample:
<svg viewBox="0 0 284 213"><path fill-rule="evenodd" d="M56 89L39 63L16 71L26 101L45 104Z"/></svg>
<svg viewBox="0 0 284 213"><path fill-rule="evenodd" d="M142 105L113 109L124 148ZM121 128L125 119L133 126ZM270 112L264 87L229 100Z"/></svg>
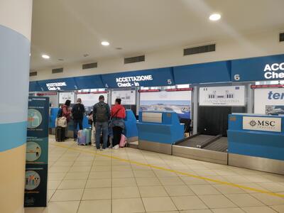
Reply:
<svg viewBox="0 0 284 213"><path fill-rule="evenodd" d="M96 147L97 150L100 149L100 136L102 133L103 136L103 146L102 148L107 148L107 138L108 138L108 127L109 127L109 117L110 117L110 109L109 104L104 102L104 96L99 96L99 102L94 104L93 107L93 121L95 122L94 126L96 129L95 133L95 140L96 140Z"/></svg>

